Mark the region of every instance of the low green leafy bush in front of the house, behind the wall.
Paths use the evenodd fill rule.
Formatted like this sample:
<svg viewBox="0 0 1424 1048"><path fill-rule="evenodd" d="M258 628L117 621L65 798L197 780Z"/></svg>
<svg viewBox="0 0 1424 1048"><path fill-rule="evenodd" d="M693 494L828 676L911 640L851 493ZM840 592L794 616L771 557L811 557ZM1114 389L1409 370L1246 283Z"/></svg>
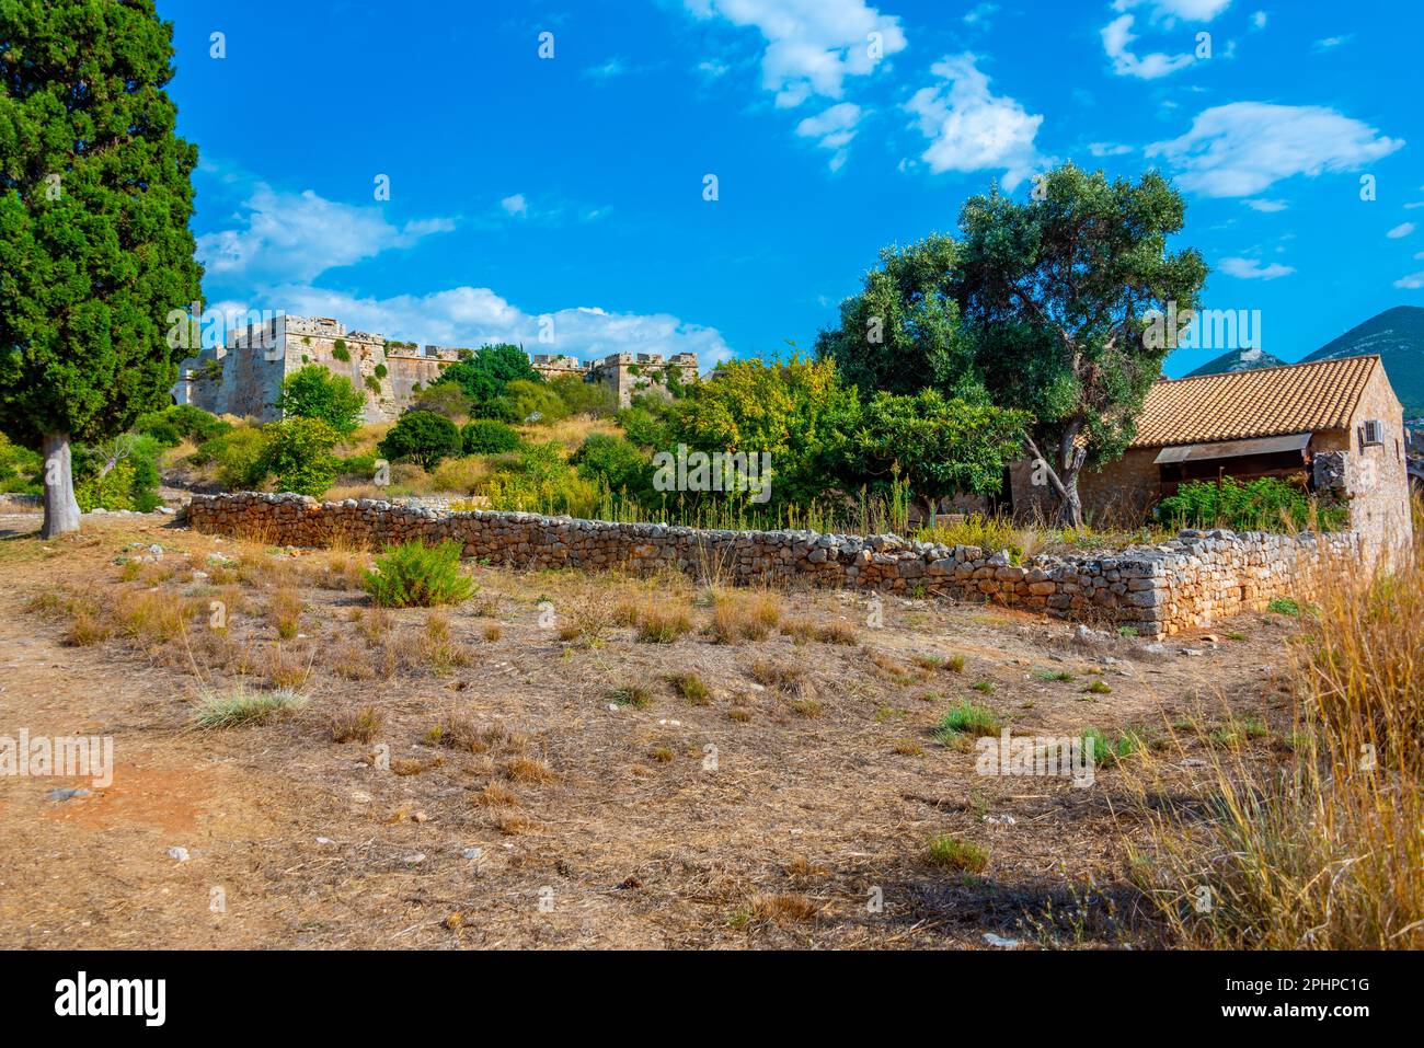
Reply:
<svg viewBox="0 0 1424 1048"><path fill-rule="evenodd" d="M1349 523L1346 507L1320 504L1299 484L1279 477L1259 477L1246 483L1235 477L1223 477L1220 483L1193 480L1163 498L1156 515L1171 527L1232 531L1336 531Z"/></svg>

